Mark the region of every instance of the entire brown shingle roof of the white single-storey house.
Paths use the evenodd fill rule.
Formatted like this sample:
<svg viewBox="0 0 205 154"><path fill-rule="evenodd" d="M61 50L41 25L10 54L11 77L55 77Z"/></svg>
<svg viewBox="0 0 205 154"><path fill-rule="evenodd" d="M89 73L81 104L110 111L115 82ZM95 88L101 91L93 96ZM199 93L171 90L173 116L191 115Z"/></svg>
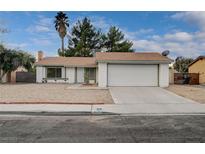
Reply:
<svg viewBox="0 0 205 154"><path fill-rule="evenodd" d="M95 57L46 57L36 66L96 67L98 61L162 61L172 60L157 52L97 52Z"/></svg>

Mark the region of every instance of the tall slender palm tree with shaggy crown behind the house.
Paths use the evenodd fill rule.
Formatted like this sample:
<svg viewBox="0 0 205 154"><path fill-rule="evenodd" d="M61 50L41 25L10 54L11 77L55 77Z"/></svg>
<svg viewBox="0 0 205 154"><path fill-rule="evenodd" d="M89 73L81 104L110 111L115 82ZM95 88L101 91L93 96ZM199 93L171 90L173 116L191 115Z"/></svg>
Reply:
<svg viewBox="0 0 205 154"><path fill-rule="evenodd" d="M61 38L61 50L64 55L64 37L67 34L67 27L69 27L68 17L62 11L58 12L55 16L55 28L58 31L59 36Z"/></svg>

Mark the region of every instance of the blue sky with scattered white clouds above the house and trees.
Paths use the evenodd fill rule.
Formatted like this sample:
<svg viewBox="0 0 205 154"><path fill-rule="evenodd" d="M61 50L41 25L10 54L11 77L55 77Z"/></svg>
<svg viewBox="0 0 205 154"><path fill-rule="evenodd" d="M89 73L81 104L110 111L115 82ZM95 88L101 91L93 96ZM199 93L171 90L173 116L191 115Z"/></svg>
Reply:
<svg viewBox="0 0 205 154"><path fill-rule="evenodd" d="M196 58L205 55L205 12L65 12L70 27L88 17L92 24L107 32L117 26L133 42L135 52L170 51L170 57ZM36 55L57 56L61 41L54 28L53 12L0 12L0 42L8 48ZM68 41L65 39L65 46Z"/></svg>

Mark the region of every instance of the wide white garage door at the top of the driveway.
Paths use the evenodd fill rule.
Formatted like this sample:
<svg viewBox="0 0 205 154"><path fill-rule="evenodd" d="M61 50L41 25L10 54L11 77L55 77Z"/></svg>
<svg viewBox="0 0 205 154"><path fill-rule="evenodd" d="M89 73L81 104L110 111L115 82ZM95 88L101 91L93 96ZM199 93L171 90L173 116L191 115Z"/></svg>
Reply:
<svg viewBox="0 0 205 154"><path fill-rule="evenodd" d="M158 86L158 65L108 64L108 86Z"/></svg>

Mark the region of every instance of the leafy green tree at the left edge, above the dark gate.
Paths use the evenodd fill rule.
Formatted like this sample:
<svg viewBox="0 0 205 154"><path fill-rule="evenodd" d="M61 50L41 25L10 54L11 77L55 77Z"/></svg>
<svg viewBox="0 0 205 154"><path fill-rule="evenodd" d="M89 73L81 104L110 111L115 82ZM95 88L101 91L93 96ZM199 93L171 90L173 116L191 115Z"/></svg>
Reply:
<svg viewBox="0 0 205 154"><path fill-rule="evenodd" d="M23 66L30 71L33 68L34 62L35 57L32 55L24 51L7 49L0 45L0 70L3 71L0 74L0 82L5 74L15 71L19 66Z"/></svg>

